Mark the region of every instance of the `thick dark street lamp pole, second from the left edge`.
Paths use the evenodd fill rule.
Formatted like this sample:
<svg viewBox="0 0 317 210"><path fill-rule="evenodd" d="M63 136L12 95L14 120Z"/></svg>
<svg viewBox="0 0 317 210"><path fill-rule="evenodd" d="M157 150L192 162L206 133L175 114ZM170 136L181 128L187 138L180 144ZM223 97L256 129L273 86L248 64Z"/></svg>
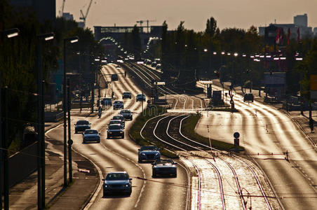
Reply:
<svg viewBox="0 0 317 210"><path fill-rule="evenodd" d="M54 33L40 34L36 36L37 55L37 90L38 90L38 162L37 162L37 206L45 208L45 137L44 137L44 97L43 97L43 71L42 71L42 41L50 41Z"/></svg>

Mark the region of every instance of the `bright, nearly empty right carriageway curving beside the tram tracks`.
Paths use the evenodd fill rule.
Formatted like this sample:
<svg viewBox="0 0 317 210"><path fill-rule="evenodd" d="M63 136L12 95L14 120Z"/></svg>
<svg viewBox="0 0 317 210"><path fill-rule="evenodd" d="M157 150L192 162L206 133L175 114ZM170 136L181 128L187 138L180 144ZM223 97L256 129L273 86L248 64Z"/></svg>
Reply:
<svg viewBox="0 0 317 210"><path fill-rule="evenodd" d="M222 90L215 85L213 89ZM208 137L205 127L209 125L211 138L231 144L234 132L240 132L241 146L267 174L283 207L316 209L317 153L311 142L292 119L274 107L243 102L239 94L234 95L234 102L238 113L205 113L196 132Z"/></svg>

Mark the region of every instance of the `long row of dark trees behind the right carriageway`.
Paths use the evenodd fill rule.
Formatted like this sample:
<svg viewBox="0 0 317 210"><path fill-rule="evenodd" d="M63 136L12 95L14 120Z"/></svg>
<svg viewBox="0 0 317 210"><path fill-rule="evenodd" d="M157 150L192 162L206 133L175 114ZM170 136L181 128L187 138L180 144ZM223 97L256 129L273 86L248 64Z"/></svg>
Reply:
<svg viewBox="0 0 317 210"><path fill-rule="evenodd" d="M297 94L302 84L306 98L309 94L309 76L317 73L316 38L305 37L300 43L292 39L288 45L267 45L264 37L259 36L257 28L251 26L248 30L226 28L220 30L215 18L206 22L205 31L196 32L185 29L184 22L175 31L168 31L168 25L163 22L161 44L153 44L146 56L161 57L162 69L166 78L178 77L179 85L195 85L199 78L213 78L214 71L220 72L224 80L232 80L241 85L250 80L254 86L263 85L264 72L286 71L288 94ZM217 54L214 54L216 52ZM221 52L225 52L222 55ZM231 52L231 55L227 55ZM234 56L234 53L237 56ZM299 54L298 54L299 53ZM242 55L245 55L243 57ZM253 61L250 55L281 55L285 61ZM295 60L295 55L303 57L302 62ZM305 90L305 91L304 91Z"/></svg>

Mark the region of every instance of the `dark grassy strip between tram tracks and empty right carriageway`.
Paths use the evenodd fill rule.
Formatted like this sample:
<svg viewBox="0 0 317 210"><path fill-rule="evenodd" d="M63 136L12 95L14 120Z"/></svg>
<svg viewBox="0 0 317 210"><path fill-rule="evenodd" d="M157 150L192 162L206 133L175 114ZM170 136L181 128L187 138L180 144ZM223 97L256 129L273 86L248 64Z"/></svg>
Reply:
<svg viewBox="0 0 317 210"><path fill-rule="evenodd" d="M209 145L209 139L206 137L202 137L201 135L195 132L195 127L198 123L198 120L201 118L200 113L196 113L191 115L189 118L184 120L182 123L182 134L189 139L193 139L195 141L200 142L201 144ZM211 134L212 135L212 134ZM242 146L234 146L234 144L228 144L223 141L217 141L215 139L210 139L213 148L221 151L230 151L231 149L238 148L239 150L243 150ZM232 139L234 141L234 139Z"/></svg>

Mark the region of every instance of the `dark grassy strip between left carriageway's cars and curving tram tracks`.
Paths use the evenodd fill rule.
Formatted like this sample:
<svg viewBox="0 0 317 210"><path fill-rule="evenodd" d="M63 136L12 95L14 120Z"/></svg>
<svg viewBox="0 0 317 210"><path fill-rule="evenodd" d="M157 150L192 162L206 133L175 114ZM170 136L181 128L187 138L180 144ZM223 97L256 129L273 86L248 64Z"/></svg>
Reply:
<svg viewBox="0 0 317 210"><path fill-rule="evenodd" d="M143 139L140 135L140 131L147 120L154 118L155 116L160 116L163 113L166 113L166 109L163 106L148 106L147 109L144 109L143 113L135 119L135 123L133 123L132 127L129 130L130 138L139 145L156 144L156 142L151 142L147 139ZM161 148L162 155L165 155L168 158L179 158L175 153L171 153L170 151L164 149L163 144L156 144L156 146Z"/></svg>

